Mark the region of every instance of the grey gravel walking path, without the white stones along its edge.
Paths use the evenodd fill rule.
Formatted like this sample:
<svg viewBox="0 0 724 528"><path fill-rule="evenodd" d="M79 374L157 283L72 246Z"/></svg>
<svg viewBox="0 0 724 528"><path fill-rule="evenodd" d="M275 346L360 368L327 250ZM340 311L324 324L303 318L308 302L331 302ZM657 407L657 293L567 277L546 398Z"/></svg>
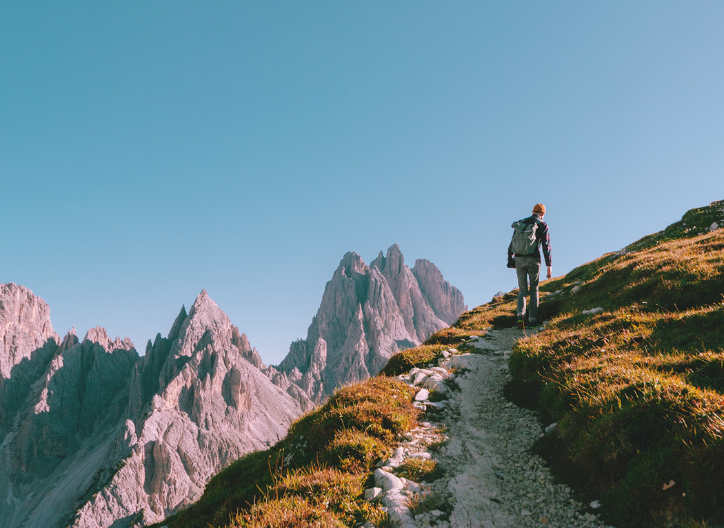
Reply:
<svg viewBox="0 0 724 528"><path fill-rule="evenodd" d="M453 477L450 525L463 527L598 527L593 508L556 484L531 448L543 430L536 416L503 396L508 356L521 332L492 330L474 345L479 353L450 359L463 372L445 417L450 441L439 454ZM468 370L469 369L469 370Z"/></svg>

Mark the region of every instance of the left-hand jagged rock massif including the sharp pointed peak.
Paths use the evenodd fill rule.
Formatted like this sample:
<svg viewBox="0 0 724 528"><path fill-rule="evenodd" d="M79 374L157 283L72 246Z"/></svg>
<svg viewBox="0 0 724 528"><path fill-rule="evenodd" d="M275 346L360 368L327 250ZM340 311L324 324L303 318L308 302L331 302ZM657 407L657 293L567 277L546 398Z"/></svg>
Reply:
<svg viewBox="0 0 724 528"><path fill-rule="evenodd" d="M12 310L0 299L2 337L14 343L0 359L15 362L12 373L25 361L40 374L0 445L0 526L159 521L197 499L219 469L276 443L301 413L294 390L269 380L206 291L139 357L101 327L60 342L45 303L17 288L0 290L20 299Z"/></svg>

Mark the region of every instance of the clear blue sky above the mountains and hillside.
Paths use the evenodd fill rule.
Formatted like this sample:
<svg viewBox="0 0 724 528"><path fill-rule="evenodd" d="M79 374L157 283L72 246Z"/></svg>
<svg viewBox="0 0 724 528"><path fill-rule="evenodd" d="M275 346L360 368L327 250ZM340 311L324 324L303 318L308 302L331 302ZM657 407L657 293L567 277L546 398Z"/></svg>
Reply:
<svg viewBox="0 0 724 528"><path fill-rule="evenodd" d="M0 282L143 353L206 288L277 363L342 255L470 306L724 198L718 1L4 2Z"/></svg>

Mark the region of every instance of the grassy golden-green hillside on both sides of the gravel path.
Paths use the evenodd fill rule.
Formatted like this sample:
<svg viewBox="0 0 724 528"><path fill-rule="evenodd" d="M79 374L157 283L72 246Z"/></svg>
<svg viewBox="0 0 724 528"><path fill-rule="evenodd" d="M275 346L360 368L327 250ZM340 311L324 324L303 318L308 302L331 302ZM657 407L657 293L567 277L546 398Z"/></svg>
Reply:
<svg viewBox="0 0 724 528"><path fill-rule="evenodd" d="M724 201L544 282L545 330L510 359L511 398L557 422L540 448L620 527L724 524ZM219 473L169 527L335 527L384 515L371 468L418 411L393 377L515 324L511 292L466 312L383 374L345 387L279 444ZM594 314L584 314L602 308ZM156 526L160 526L156 525Z"/></svg>

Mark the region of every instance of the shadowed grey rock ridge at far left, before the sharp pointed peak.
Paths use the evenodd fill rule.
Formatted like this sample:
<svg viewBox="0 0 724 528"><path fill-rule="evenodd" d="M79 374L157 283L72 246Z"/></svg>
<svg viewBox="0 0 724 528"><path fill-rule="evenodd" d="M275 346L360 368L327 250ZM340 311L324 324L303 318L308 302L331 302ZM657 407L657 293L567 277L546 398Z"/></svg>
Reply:
<svg viewBox="0 0 724 528"><path fill-rule="evenodd" d="M101 343L92 340L103 335ZM139 359L130 341L115 342L125 346L106 350L113 341L98 328L80 343L69 332L50 347L49 361L32 353L29 363L42 372L0 446L0 494L7 497L1 526L65 526L77 501L98 484L98 469L115 463L106 435L122 419Z"/></svg>

